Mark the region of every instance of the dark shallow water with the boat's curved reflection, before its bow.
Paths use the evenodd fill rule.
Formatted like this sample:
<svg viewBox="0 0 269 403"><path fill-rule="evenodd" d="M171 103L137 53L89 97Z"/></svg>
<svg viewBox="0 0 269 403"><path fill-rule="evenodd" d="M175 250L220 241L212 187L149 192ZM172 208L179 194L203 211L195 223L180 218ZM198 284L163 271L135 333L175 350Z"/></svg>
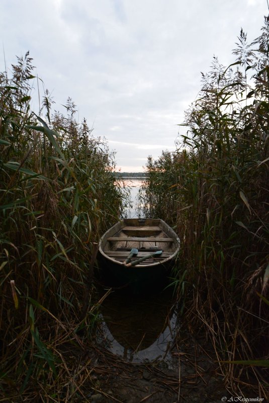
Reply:
<svg viewBox="0 0 269 403"><path fill-rule="evenodd" d="M169 356L176 313L169 293L138 298L110 294L101 306L99 342L127 361L154 361Z"/></svg>

